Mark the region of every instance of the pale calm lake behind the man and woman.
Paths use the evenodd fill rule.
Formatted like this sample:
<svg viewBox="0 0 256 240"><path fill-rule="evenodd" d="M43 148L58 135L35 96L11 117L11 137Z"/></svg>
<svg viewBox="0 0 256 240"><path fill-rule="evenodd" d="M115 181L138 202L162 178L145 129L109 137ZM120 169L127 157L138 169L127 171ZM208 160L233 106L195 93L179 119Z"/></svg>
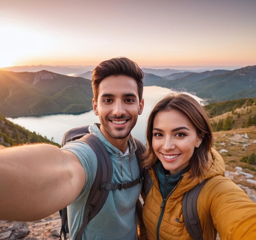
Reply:
<svg viewBox="0 0 256 240"><path fill-rule="evenodd" d="M146 121L148 119L150 110L159 99L172 92L172 90L163 87L144 87L144 110L143 113L139 115L137 124L132 130L133 136L138 137L142 142L145 143ZM195 98L200 102L203 101L196 96ZM95 116L92 110L76 115L52 114L40 115L37 117L17 117L7 119L27 128L31 132L35 131L42 136L46 136L48 139L53 137L53 141L57 142L58 144L61 144L63 134L71 128L99 122L98 116Z"/></svg>

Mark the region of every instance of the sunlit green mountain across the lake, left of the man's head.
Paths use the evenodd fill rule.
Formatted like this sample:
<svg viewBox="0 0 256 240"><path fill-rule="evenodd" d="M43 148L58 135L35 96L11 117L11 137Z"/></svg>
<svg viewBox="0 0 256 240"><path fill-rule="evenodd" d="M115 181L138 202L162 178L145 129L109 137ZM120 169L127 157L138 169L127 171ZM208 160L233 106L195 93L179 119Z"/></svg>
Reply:
<svg viewBox="0 0 256 240"><path fill-rule="evenodd" d="M6 117L92 109L91 81L48 71L0 70L0 113Z"/></svg>

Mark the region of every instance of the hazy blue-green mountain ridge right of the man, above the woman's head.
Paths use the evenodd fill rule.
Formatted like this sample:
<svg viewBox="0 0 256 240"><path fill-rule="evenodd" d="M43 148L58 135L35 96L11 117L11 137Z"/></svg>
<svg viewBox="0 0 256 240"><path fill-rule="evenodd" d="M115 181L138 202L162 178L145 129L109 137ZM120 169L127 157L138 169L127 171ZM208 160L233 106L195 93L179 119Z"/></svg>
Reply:
<svg viewBox="0 0 256 240"><path fill-rule="evenodd" d="M256 65L236 70L175 73L150 79L150 84L193 92L210 102L256 96Z"/></svg>

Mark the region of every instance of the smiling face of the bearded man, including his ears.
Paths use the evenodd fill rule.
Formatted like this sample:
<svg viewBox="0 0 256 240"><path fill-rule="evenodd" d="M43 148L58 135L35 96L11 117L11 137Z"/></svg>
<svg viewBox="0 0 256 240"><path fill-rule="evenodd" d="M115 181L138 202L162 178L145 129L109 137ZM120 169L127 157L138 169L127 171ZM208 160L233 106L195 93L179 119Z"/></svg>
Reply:
<svg viewBox="0 0 256 240"><path fill-rule="evenodd" d="M104 137L111 143L114 139L128 139L144 106L144 100L139 103L136 81L125 75L108 76L98 91L98 101L93 99L92 105Z"/></svg>

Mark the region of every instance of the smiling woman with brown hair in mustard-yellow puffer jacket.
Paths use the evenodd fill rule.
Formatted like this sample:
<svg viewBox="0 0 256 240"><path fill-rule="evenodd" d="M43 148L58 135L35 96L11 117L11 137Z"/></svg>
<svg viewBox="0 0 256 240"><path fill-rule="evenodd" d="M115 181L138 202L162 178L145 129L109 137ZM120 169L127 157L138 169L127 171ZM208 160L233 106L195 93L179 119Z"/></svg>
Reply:
<svg viewBox="0 0 256 240"><path fill-rule="evenodd" d="M166 96L150 113L144 166L153 186L143 209L148 239L191 240L182 215L182 197L198 183L197 202L204 240L256 239L256 204L224 177L222 157L211 148L207 113L191 96Z"/></svg>

